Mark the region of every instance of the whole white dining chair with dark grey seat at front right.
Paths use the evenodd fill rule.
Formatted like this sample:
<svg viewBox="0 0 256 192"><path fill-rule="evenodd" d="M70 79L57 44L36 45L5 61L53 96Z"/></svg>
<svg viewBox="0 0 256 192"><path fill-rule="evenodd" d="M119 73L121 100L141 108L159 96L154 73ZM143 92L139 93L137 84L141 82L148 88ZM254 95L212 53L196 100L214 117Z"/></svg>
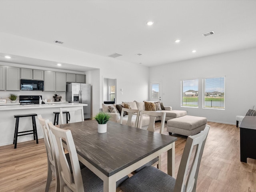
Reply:
<svg viewBox="0 0 256 192"><path fill-rule="evenodd" d="M210 126L206 125L202 132L188 136L177 179L153 166L147 166L124 181L120 186L121 190L123 192L196 192L200 162L209 129ZM192 165L189 169L190 158Z"/></svg>

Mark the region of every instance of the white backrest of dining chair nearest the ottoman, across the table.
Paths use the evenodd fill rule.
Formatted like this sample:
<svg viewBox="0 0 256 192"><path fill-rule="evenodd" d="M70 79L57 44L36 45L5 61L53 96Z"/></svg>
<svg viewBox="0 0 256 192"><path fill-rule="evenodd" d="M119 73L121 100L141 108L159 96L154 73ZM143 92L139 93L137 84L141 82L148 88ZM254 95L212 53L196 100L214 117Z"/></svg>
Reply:
<svg viewBox="0 0 256 192"><path fill-rule="evenodd" d="M160 133L162 134L164 132L164 122L165 122L165 117L166 117L166 112L156 112L156 111L146 111L146 110L142 110L140 112L140 123L139 123L139 128L142 128L142 121L143 118L145 117L144 115L148 115L150 120L149 120L149 125L148 125L148 131L155 131L155 121L156 121L156 117L160 117L161 118L161 127L160 127Z"/></svg>

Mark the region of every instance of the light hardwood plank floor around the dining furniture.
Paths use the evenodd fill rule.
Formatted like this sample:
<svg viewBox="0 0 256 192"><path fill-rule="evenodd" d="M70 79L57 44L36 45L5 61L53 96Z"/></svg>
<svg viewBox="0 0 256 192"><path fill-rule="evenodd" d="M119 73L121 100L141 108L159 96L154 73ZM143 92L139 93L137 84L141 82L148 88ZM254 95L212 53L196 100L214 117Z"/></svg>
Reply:
<svg viewBox="0 0 256 192"><path fill-rule="evenodd" d="M234 125L208 122L211 126L198 175L197 192L256 192L256 160L240 162L240 132ZM160 122L156 122L156 128ZM156 130L159 132L159 130ZM166 132L166 124L164 134ZM186 143L186 136L173 134L175 177ZM166 172L166 153L162 154L162 170ZM0 192L44 192L47 156L44 140L0 147ZM50 192L54 192L53 179Z"/></svg>

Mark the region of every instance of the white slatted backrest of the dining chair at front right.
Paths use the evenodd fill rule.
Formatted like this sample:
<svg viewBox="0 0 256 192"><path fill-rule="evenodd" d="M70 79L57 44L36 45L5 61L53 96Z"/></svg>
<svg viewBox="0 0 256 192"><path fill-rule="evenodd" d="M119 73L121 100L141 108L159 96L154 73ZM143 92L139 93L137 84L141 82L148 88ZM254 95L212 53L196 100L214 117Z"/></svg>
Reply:
<svg viewBox="0 0 256 192"><path fill-rule="evenodd" d="M180 167L178 170L178 175L174 187L174 192L183 192L184 186L185 192L195 192L196 191L196 182L198 178L198 171L200 167L200 162L202 159L202 154L204 151L204 145L206 142L206 138L208 132L210 130L210 126L206 125L204 130L194 136L188 136L186 145L182 154L182 158L180 161ZM192 156L192 151L195 149L194 156ZM190 158L192 161L192 165L190 167L188 178L186 180ZM186 181L186 184L185 184Z"/></svg>

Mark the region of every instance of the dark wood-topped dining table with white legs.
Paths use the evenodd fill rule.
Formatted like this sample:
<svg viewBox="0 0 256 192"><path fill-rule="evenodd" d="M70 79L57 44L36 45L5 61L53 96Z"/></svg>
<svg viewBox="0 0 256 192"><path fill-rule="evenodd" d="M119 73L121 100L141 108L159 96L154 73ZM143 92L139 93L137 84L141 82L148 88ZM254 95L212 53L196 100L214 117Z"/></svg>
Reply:
<svg viewBox="0 0 256 192"><path fill-rule="evenodd" d="M103 180L104 192L116 192L116 181L167 151L167 173L174 176L176 137L107 122L98 133L96 120L58 125L71 130L78 159Z"/></svg>

